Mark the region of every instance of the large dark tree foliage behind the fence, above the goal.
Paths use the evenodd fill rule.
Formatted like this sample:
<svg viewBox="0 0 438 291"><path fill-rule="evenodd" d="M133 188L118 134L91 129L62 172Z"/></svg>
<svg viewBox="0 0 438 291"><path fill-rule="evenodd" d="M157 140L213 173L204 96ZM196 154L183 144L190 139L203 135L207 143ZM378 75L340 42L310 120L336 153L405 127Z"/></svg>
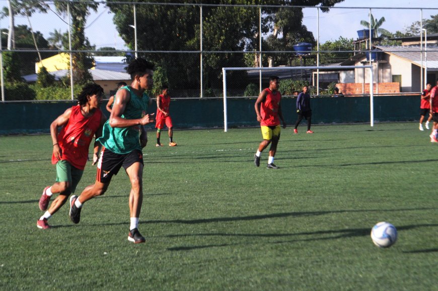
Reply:
<svg viewBox="0 0 438 291"><path fill-rule="evenodd" d="M175 0L167 3L208 4L202 7L202 56L204 87L218 88L222 84L221 67L258 66L258 54L243 54L259 50L259 8L229 5L333 6L343 0ZM112 4L115 2L114 4ZM162 2L162 1L150 1ZM213 7L210 5L222 5ZM131 50L134 50L132 5L107 0L115 14L117 30ZM166 68L172 87L199 86L200 8L197 6L141 5L136 8L137 50ZM327 11L326 8L322 9ZM262 9L263 50L292 50L300 41L315 43L313 34L302 25L301 8ZM195 51L193 53L142 53L141 51ZM219 53L218 51L223 51ZM236 53L235 53L236 52ZM265 55L263 64L268 65ZM287 64L290 54L272 55L275 65ZM230 72L231 83L242 82L246 73ZM231 85L231 84L230 84Z"/></svg>

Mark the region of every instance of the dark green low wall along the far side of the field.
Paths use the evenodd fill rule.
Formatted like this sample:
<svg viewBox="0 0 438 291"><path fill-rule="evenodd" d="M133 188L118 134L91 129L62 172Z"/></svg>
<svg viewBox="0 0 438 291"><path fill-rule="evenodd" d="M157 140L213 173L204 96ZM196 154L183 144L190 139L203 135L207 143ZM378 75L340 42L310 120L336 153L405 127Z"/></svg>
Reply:
<svg viewBox="0 0 438 291"><path fill-rule="evenodd" d="M173 99L170 106L175 128L224 127L224 103L221 98ZM228 127L258 126L254 111L255 98L228 98ZM0 103L0 134L47 133L50 123L71 102ZM374 98L374 120L413 121L419 119L420 98L411 96L378 96ZM312 98L312 123L370 122L370 97ZM283 98L281 107L288 125L295 124L296 98ZM150 112L156 112L151 106ZM102 105L107 117L109 112ZM303 121L304 123L306 121ZM155 125L148 125L154 130Z"/></svg>

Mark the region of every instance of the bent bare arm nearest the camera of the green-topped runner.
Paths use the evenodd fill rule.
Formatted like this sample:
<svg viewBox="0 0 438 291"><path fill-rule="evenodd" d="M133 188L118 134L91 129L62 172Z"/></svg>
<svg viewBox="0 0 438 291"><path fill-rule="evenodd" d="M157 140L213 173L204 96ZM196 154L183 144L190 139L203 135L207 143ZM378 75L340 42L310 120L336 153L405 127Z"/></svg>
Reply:
<svg viewBox="0 0 438 291"><path fill-rule="evenodd" d="M134 125L145 125L154 122L154 113L146 114L138 119L125 119L122 114L125 111L126 104L130 100L128 90L119 90L114 98L114 105L110 115L111 127L129 127Z"/></svg>

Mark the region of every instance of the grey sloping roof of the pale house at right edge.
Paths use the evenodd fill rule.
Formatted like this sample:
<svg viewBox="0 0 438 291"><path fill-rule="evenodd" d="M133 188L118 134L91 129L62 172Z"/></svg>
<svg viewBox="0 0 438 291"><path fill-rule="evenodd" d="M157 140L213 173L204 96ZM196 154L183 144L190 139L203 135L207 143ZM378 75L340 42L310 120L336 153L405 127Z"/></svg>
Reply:
<svg viewBox="0 0 438 291"><path fill-rule="evenodd" d="M421 66L421 52L419 46L375 46L377 49L398 57L404 58L418 66ZM423 49L425 49L423 47ZM423 54L422 66L426 67L426 58ZM438 69L438 46L427 46L427 68Z"/></svg>

